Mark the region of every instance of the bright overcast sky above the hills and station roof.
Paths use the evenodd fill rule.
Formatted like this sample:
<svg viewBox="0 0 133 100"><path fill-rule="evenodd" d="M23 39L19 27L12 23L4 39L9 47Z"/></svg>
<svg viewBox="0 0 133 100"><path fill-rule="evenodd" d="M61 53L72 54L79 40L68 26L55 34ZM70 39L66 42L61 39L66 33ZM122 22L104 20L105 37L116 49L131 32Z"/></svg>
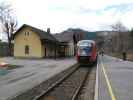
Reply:
<svg viewBox="0 0 133 100"><path fill-rule="evenodd" d="M4 0L5 1L5 0ZM133 27L133 0L6 0L12 4L19 26L29 24L52 33L67 28L107 30L121 21Z"/></svg>

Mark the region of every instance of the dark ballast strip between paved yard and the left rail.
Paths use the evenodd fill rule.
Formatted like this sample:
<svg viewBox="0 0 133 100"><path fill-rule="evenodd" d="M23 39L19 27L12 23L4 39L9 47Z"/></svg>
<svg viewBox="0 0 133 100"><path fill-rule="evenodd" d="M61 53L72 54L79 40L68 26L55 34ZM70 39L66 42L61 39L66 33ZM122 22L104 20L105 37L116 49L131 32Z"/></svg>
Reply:
<svg viewBox="0 0 133 100"><path fill-rule="evenodd" d="M56 74L54 77L51 77L50 79L38 84L37 86L24 91L21 94L16 94L15 96L8 98L8 100L34 100L44 92L49 91L51 87L57 85L58 82L61 82L65 78L69 77L75 70L77 70L78 67L78 64L75 64L61 73Z"/></svg>

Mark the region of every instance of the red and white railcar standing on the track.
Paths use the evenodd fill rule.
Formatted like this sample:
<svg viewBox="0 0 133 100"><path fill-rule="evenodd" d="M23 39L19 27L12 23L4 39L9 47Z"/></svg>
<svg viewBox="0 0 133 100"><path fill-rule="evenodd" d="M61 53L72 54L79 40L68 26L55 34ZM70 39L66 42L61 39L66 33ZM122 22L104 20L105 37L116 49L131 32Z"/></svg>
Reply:
<svg viewBox="0 0 133 100"><path fill-rule="evenodd" d="M79 64L90 64L97 61L96 43L93 40L81 40L77 43L76 58Z"/></svg>

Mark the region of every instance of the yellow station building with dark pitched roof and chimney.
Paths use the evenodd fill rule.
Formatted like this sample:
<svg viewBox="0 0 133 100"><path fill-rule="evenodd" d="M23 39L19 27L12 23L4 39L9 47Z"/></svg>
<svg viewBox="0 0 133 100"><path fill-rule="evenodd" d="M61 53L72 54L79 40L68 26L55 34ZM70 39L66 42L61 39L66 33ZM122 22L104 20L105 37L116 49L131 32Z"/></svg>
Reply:
<svg viewBox="0 0 133 100"><path fill-rule="evenodd" d="M58 56L59 42L47 32L24 24L13 36L14 57L43 58Z"/></svg>

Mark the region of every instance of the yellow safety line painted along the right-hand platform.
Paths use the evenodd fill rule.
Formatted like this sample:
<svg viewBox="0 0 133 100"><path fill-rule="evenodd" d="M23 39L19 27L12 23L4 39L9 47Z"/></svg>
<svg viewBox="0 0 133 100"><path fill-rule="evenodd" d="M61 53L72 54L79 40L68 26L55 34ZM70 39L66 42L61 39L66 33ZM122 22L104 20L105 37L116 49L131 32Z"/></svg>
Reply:
<svg viewBox="0 0 133 100"><path fill-rule="evenodd" d="M108 91L109 91L109 94L111 96L111 100L116 100L115 95L114 95L113 90L112 90L112 87L111 87L111 84L110 84L110 81L109 81L108 76L106 74L105 67L104 67L102 62L101 62L101 65L102 65L102 71L104 73L105 80L106 80L106 83L107 83L107 86L108 86Z"/></svg>

